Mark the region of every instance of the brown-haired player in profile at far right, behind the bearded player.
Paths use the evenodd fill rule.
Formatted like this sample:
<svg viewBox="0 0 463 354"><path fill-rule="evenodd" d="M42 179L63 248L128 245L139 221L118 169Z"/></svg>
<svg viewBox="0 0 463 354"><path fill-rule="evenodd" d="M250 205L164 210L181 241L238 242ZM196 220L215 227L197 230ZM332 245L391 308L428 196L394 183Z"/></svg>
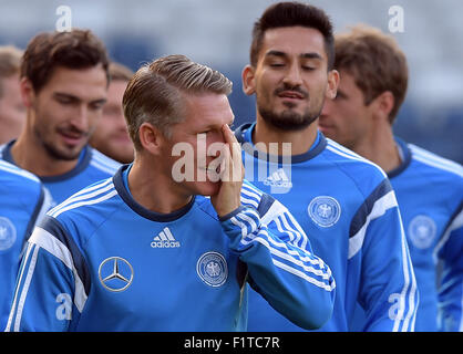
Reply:
<svg viewBox="0 0 463 354"><path fill-rule="evenodd" d="M325 103L320 129L381 166L391 180L420 290L415 330L462 331L462 166L394 136L409 72L392 37L367 25L337 35L335 67L338 96ZM360 322L353 329L361 330Z"/></svg>

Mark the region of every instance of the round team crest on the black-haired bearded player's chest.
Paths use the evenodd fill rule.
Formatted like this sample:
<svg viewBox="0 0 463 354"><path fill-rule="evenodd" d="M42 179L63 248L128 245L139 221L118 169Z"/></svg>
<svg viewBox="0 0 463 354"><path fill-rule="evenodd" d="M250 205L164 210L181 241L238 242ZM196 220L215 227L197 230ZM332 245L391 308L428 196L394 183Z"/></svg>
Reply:
<svg viewBox="0 0 463 354"><path fill-rule="evenodd" d="M319 196L310 201L307 211L315 223L322 228L329 228L338 222L341 216L341 206L333 197Z"/></svg>

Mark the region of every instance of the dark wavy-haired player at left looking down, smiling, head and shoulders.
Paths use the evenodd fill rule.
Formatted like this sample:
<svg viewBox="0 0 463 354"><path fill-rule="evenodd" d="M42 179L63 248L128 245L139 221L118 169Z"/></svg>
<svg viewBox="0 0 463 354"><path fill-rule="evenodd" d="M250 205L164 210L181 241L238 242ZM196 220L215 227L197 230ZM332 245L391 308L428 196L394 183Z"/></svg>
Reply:
<svg viewBox="0 0 463 354"><path fill-rule="evenodd" d="M88 146L106 102L109 61L90 31L40 33L21 63L27 121L1 157L37 175L53 198L112 176L119 163Z"/></svg>

